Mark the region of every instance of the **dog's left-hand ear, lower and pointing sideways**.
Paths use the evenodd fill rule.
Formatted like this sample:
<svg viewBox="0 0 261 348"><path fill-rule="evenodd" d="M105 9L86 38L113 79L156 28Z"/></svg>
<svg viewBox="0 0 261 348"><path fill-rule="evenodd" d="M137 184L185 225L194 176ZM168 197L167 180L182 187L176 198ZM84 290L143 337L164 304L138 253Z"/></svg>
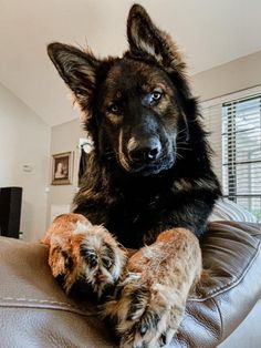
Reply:
<svg viewBox="0 0 261 348"><path fill-rule="evenodd" d="M59 42L48 45L48 54L79 104L87 106L95 91L98 60L91 52Z"/></svg>

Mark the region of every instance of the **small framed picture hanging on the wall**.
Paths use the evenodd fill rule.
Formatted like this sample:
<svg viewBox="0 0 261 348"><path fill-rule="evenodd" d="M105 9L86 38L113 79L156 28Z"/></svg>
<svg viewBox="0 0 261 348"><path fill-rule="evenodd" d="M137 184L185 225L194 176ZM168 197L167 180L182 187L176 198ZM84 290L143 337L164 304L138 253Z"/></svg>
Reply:
<svg viewBox="0 0 261 348"><path fill-rule="evenodd" d="M73 152L52 155L52 185L71 185L73 180Z"/></svg>

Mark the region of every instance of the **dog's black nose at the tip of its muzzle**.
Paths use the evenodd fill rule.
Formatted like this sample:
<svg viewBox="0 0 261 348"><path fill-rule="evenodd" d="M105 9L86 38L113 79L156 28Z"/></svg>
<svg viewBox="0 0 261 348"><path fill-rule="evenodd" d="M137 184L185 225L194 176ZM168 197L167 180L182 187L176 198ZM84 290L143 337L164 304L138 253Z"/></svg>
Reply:
<svg viewBox="0 0 261 348"><path fill-rule="evenodd" d="M153 162L158 158L161 145L158 139L152 137L143 141L130 140L128 142L128 156L133 162Z"/></svg>

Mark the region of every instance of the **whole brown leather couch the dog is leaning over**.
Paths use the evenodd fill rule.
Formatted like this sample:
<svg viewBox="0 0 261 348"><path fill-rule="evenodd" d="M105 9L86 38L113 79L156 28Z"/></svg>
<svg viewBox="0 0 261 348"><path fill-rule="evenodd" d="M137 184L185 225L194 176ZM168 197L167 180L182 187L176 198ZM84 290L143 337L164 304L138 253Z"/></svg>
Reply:
<svg viewBox="0 0 261 348"><path fill-rule="evenodd" d="M216 222L209 228L202 250L212 276L189 298L170 347L260 348L261 226ZM0 347L117 347L97 309L61 290L43 245L1 237L0 257Z"/></svg>

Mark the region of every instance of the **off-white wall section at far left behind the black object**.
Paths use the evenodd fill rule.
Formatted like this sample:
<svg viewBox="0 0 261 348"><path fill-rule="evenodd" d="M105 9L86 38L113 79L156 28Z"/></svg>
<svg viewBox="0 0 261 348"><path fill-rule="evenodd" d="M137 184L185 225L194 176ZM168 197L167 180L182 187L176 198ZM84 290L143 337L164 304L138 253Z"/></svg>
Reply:
<svg viewBox="0 0 261 348"><path fill-rule="evenodd" d="M25 240L45 231L50 136L51 127L0 84L0 186L23 187L20 231Z"/></svg>

